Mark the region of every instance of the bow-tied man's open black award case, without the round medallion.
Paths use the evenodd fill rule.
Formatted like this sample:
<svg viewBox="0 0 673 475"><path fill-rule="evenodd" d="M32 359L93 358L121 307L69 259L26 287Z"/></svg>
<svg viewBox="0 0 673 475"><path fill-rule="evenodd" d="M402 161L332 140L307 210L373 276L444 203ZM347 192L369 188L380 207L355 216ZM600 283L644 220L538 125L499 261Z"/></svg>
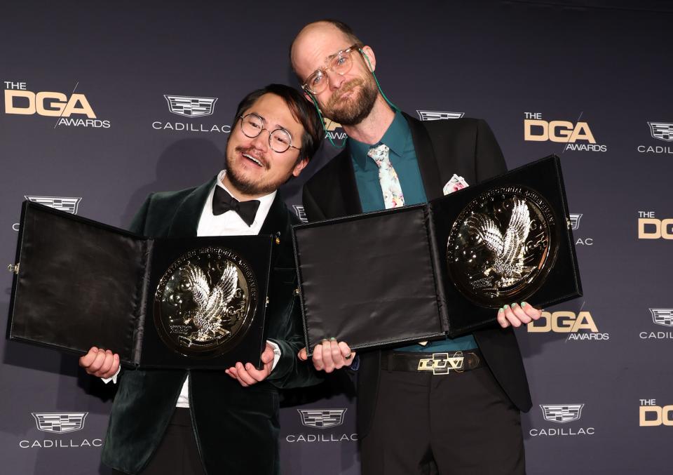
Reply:
<svg viewBox="0 0 673 475"><path fill-rule="evenodd" d="M15 275L7 338L76 354L92 346L111 349L125 366L225 368L249 361L259 368L272 248L271 235L137 236L25 201L10 266ZM195 355L160 335L155 312L167 269L203 249L240 258L256 298L247 307L244 330Z"/></svg>

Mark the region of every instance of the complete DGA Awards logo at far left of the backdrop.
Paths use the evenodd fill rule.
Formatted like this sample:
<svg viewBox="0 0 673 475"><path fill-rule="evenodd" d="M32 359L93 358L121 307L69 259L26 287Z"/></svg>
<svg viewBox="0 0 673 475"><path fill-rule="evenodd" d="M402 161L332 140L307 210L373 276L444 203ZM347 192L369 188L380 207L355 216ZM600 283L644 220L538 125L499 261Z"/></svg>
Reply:
<svg viewBox="0 0 673 475"><path fill-rule="evenodd" d="M79 82L70 94L29 91L24 81L4 81L4 85L5 114L57 117L54 128L110 128L110 121L102 120L96 115L86 95L75 92Z"/></svg>

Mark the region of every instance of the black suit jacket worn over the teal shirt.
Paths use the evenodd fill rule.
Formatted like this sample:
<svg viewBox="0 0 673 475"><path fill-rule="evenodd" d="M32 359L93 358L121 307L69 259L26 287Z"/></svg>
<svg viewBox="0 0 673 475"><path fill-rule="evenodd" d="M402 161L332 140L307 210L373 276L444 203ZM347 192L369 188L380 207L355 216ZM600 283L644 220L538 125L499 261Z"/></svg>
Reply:
<svg viewBox="0 0 673 475"><path fill-rule="evenodd" d="M418 121L405 114L412 131L423 187L428 200L443 196L442 187L456 173L473 185L505 173L505 160L485 121L452 119ZM309 221L362 213L351 152L344 149L304 185L304 210ZM519 410L531 408L521 353L512 328L473 333L491 372ZM381 352L362 353L358 370L358 433L366 436L379 386Z"/></svg>

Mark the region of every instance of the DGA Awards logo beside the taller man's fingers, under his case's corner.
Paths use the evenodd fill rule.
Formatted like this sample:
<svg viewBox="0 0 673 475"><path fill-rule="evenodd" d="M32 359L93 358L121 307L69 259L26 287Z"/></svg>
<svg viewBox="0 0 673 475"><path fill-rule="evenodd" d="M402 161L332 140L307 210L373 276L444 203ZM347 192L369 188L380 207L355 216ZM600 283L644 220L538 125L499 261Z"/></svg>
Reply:
<svg viewBox="0 0 673 475"><path fill-rule="evenodd" d="M567 333L566 341L610 340L609 333L601 333L590 312L542 312L538 320L526 325L529 333Z"/></svg>

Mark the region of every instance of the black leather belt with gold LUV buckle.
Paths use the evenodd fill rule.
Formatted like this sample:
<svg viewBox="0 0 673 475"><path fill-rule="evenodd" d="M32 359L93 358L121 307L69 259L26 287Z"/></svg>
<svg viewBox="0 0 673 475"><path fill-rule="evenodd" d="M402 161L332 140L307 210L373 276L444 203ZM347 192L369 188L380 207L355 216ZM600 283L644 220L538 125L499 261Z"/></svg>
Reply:
<svg viewBox="0 0 673 475"><path fill-rule="evenodd" d="M429 371L433 375L447 375L482 366L484 358L476 348L458 352L387 352L381 355L381 369L389 371Z"/></svg>

